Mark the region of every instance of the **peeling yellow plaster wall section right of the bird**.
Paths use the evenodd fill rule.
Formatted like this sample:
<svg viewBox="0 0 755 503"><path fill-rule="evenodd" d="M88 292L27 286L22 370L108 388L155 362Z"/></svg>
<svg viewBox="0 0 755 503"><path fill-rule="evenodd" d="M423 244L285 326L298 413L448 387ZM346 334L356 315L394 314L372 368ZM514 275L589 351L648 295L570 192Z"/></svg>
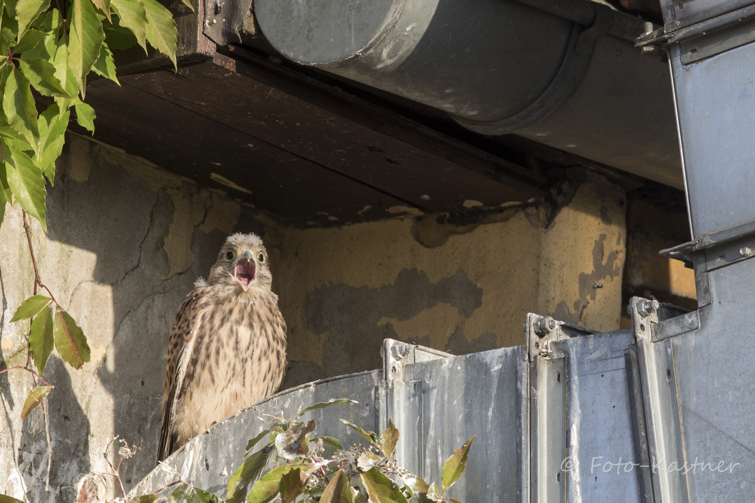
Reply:
<svg viewBox="0 0 755 503"><path fill-rule="evenodd" d="M377 368L386 337L456 354L522 344L528 311L618 329L624 211L621 188L587 174L547 228L523 205L445 232L436 247L418 241L427 222L411 218L268 232L281 250L285 385Z"/></svg>

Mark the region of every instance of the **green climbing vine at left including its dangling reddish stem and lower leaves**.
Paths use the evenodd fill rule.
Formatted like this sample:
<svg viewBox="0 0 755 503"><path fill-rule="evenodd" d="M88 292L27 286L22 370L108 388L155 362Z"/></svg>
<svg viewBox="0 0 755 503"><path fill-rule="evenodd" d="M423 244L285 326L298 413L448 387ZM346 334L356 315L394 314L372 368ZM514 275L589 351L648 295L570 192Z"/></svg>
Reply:
<svg viewBox="0 0 755 503"><path fill-rule="evenodd" d="M192 8L190 0L183 3ZM0 225L7 203L18 204L34 266L33 295L11 318L29 321L26 364L0 373L17 369L32 374L35 388L26 397L21 418L42 406L48 477L45 397L54 386L42 374L53 350L80 369L89 361L89 347L79 324L42 283L27 215L47 232L46 186L54 184L55 161L72 117L94 133L94 109L85 103L91 73L119 84L112 51L137 44L145 52L151 45L176 66L176 39L170 11L156 0L0 0Z"/></svg>

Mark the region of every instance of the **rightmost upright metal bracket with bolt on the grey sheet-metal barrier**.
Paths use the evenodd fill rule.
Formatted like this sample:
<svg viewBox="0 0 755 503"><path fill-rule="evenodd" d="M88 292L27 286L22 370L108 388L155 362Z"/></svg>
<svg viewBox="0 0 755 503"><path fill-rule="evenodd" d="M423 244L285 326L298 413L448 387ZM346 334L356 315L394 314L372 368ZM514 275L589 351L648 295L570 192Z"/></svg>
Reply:
<svg viewBox="0 0 755 503"><path fill-rule="evenodd" d="M643 390L653 494L655 503L687 501L676 374L670 339L653 342L658 301L632 297L627 307L636 341L639 379ZM673 319L673 318L672 318Z"/></svg>

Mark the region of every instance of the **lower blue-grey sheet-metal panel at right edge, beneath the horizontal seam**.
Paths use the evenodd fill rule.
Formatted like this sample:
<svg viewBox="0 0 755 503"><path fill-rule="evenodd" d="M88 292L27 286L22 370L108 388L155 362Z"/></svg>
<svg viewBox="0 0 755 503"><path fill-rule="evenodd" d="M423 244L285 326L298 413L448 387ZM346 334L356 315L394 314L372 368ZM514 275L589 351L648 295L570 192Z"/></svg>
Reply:
<svg viewBox="0 0 755 503"><path fill-rule="evenodd" d="M712 302L673 351L690 501L752 501L755 261L710 271Z"/></svg>

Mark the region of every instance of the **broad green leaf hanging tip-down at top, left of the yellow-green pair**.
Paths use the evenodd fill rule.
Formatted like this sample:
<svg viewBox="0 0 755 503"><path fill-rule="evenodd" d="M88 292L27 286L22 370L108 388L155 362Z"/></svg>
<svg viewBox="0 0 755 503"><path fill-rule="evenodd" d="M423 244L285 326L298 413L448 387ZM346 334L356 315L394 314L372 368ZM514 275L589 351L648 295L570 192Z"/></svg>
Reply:
<svg viewBox="0 0 755 503"><path fill-rule="evenodd" d="M105 32L91 0L72 0L70 15L68 63L84 97L85 78L100 57Z"/></svg>

